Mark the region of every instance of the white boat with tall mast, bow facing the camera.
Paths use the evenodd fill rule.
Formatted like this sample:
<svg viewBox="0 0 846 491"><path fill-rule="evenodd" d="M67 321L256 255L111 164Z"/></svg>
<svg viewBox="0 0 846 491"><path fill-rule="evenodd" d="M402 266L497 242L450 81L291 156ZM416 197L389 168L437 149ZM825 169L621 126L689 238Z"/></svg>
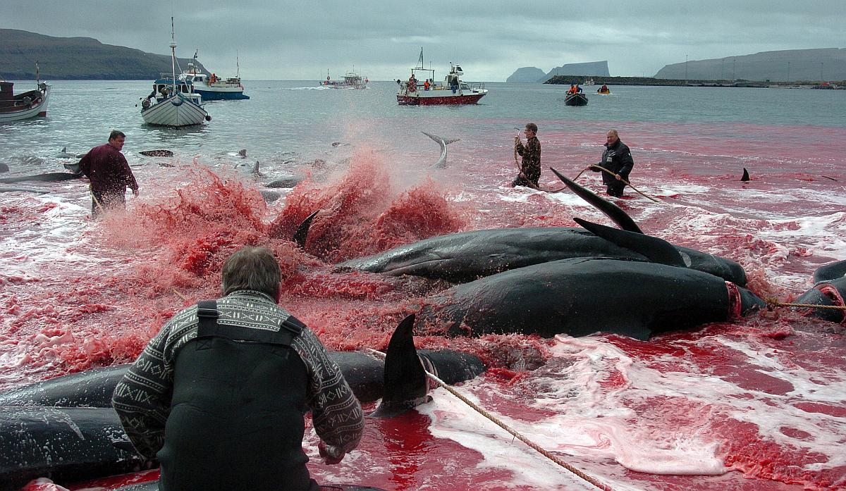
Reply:
<svg viewBox="0 0 846 491"><path fill-rule="evenodd" d="M141 117L156 126L183 127L211 121L203 109L202 97L194 91L194 81L176 77L176 38L171 22L170 57L172 72L153 81L153 90L141 99Z"/></svg>

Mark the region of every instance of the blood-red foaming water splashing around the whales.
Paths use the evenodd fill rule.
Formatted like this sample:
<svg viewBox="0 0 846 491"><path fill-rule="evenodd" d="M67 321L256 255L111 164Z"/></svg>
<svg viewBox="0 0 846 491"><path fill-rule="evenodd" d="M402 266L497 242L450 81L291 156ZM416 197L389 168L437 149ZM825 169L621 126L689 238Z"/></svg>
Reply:
<svg viewBox="0 0 846 491"><path fill-rule="evenodd" d="M603 124L538 123L545 166L574 176L601 153ZM810 287L817 266L846 259L846 171L837 145L820 145L846 130L616 125L634 153L633 184L661 201L630 188L615 201L645 232L737 260L754 292L782 300ZM335 273L335 262L449 232L574 226L574 216L608 223L573 194L508 188L512 137L453 144L451 166L428 175L363 145L337 177L306 181L271 206L201 167L143 177L152 191L101 222L73 199L14 198L0 218L15 245L0 253L0 386L134 360L180 308L217 296L222 261L244 244L272 249L283 306L329 349L383 349L421 297L446 285ZM602 192L592 172L580 183ZM541 184L560 187L547 170ZM303 252L289 238L314 210ZM651 341L416 342L482 357L489 371L459 390L612 488L846 486L843 325L779 309ZM338 466L321 464L309 433L310 470L321 483L396 490L580 488L443 390L420 412L368 420Z"/></svg>

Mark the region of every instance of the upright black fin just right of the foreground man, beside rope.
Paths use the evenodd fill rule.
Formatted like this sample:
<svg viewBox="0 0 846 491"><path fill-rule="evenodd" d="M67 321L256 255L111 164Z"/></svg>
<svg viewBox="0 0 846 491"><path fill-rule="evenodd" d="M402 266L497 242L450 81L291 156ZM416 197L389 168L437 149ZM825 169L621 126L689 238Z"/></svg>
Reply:
<svg viewBox="0 0 846 491"><path fill-rule="evenodd" d="M371 417L393 417L430 400L426 369L415 349L415 314L399 323L387 343L382 402Z"/></svg>

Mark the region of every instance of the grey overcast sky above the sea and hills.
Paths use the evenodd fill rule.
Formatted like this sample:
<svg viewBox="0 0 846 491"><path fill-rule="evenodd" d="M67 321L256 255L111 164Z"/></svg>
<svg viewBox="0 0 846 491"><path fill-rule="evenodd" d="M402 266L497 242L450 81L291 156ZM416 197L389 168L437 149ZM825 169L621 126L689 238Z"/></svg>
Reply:
<svg viewBox="0 0 846 491"><path fill-rule="evenodd" d="M520 67L607 60L612 75L762 51L844 47L846 0L0 0L0 28L177 55L244 79L318 79L355 68L405 78L424 48L437 79L449 62L468 80Z"/></svg>

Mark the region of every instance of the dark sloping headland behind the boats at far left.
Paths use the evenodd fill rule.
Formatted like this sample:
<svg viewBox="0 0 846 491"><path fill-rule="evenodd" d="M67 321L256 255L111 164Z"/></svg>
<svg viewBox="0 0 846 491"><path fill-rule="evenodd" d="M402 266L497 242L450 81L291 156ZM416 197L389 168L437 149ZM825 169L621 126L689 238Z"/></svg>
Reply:
<svg viewBox="0 0 846 491"><path fill-rule="evenodd" d="M168 40L162 40L162 46ZM187 67L189 58L179 58ZM170 55L102 44L90 37L52 37L0 29L0 79L157 79L171 72ZM198 67L204 73L206 68Z"/></svg>

